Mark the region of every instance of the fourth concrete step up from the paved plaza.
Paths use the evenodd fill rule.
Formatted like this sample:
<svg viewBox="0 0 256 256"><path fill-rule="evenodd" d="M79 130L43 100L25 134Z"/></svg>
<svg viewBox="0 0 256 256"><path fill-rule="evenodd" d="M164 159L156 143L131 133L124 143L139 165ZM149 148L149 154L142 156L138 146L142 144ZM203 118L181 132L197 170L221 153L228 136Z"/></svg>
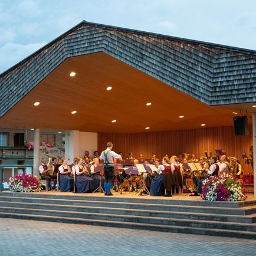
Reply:
<svg viewBox="0 0 256 256"><path fill-rule="evenodd" d="M17 195L18 193L15 193ZM219 214L219 215L250 215L256 214L256 206L246 206L242 208L218 208L212 206L186 206L186 205L164 205L164 204L147 204L134 203L134 202L108 202L108 201L92 201L80 200L80 196L76 199L51 199L51 198L34 198L27 197L28 193L24 196L0 196L0 205L2 202L24 202L34 204L60 204L60 205L76 205L76 206L94 206L94 207L110 207L110 208L125 208L125 209L141 209L151 211L168 211L168 212L191 212L191 213L204 213L204 214Z"/></svg>

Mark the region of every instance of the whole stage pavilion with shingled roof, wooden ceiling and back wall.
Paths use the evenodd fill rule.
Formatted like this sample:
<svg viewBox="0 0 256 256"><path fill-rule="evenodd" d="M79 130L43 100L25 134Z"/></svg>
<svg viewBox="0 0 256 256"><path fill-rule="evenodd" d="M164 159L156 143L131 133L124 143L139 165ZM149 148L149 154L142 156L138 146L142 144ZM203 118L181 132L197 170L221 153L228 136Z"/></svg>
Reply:
<svg viewBox="0 0 256 256"><path fill-rule="evenodd" d="M108 141L126 156L249 157L255 83L256 51L83 21L1 74L0 127L34 129L35 174L40 129L65 133L70 163ZM249 134L235 136L245 115Z"/></svg>

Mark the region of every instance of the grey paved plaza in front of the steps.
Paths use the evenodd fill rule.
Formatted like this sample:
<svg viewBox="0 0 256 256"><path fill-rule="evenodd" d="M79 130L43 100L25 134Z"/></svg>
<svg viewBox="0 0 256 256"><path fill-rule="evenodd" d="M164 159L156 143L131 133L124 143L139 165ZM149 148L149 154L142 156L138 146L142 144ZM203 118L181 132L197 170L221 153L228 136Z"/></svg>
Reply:
<svg viewBox="0 0 256 256"><path fill-rule="evenodd" d="M255 255L256 241L0 218L0 255Z"/></svg>

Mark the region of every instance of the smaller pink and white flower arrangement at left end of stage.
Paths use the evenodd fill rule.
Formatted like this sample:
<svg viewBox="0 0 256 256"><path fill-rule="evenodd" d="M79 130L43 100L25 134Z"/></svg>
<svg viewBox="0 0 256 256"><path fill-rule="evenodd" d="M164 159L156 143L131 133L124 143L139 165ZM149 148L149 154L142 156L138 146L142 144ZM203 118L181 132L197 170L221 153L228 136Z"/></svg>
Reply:
<svg viewBox="0 0 256 256"><path fill-rule="evenodd" d="M15 174L9 179L9 189L12 192L40 192L42 183L32 174Z"/></svg>

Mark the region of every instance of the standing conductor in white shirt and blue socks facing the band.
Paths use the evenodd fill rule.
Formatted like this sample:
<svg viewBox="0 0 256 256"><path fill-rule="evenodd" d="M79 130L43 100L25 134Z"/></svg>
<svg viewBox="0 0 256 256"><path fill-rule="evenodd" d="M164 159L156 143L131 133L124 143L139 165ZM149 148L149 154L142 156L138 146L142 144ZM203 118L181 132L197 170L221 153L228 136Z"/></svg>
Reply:
<svg viewBox="0 0 256 256"><path fill-rule="evenodd" d="M114 178L114 162L113 158L117 158L122 161L122 156L118 155L116 152L112 150L113 143L107 143L107 149L101 152L100 160L104 159L104 188L105 188L105 195L111 196L113 193L110 192L111 189L111 182Z"/></svg>

